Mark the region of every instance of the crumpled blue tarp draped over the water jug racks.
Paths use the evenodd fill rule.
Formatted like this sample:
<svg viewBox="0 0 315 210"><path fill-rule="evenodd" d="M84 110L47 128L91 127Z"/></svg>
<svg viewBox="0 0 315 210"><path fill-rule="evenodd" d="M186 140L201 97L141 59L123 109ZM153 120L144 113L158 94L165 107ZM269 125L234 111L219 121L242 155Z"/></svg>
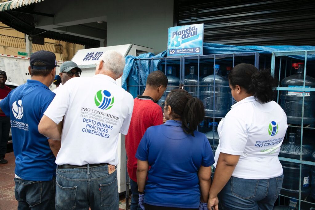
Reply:
<svg viewBox="0 0 315 210"><path fill-rule="evenodd" d="M279 45L279 46L236 46L236 45L224 45L214 43L203 43L203 54L233 54L233 53L249 53L258 52L263 54L271 54L277 51L297 51L297 50L315 50L314 46L291 46L291 45ZM123 88L127 90L127 78L129 77L129 85L146 85L146 78L150 73L150 67L152 60L141 60L141 71L139 74L139 62L135 62L136 59L145 58L163 58L166 57L166 51L154 55L153 53L140 54L138 57L128 55L126 57L126 65L123 70L122 83ZM304 55L290 56L295 59L304 60ZM315 60L315 55L308 55L307 60ZM153 60L152 71L156 71L161 60ZM140 84L139 84L140 81ZM133 91L137 92L137 91ZM132 93L135 97L136 93Z"/></svg>

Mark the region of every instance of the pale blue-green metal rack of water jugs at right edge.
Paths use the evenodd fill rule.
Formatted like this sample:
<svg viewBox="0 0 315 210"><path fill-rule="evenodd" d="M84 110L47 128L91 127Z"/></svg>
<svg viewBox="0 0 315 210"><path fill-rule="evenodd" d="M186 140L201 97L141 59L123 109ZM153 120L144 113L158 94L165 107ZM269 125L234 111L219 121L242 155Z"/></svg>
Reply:
<svg viewBox="0 0 315 210"><path fill-rule="evenodd" d="M310 61L308 58L308 55L315 54L315 50L309 50L309 51L283 51L283 52L273 52L272 53L272 61L271 61L271 74L275 78L279 80L279 85L276 88L277 96L276 96L276 101L277 103L280 103L279 101L279 95L281 91L303 91L302 94L302 112L301 112L301 125L297 124L288 124L289 128L287 131L286 136L288 136L288 133L290 130L296 129L296 128L301 128L301 143L300 143L300 150L302 151L303 148L303 135L304 132L310 131L312 133L312 137L314 137L315 134L315 125L314 124L308 124L306 125L304 123L304 118L305 118L305 93L310 92L310 94L314 94L315 88L314 87L306 87L305 86L305 79L306 79L306 74L312 74L311 76L314 77L315 72L309 71L310 69L314 69L315 62ZM302 55L304 56L304 60L298 60L295 58L292 58L290 56L294 55ZM278 65L276 64L276 60L279 59ZM304 79L303 79L303 87L281 87L280 82L283 78L290 76L291 74L294 74L294 72L291 71L291 66L292 63L295 61L297 62L302 62L304 61ZM308 70L306 69L306 66L308 66ZM315 109L315 107L313 107ZM298 205L296 206L297 209L312 209L310 207L315 208L315 200L312 200L309 196L307 196L305 199L301 197L301 185L303 182L303 177L302 177L302 166L308 165L311 167L315 167L315 162L313 161L307 161L307 160L302 160L302 152L300 152L300 159L292 159L292 158L285 158L285 157L279 157L279 160L282 162L289 162L289 163L295 163L299 164L299 193L298 193L298 198L297 197L290 197L283 195L282 192L280 191L280 196L278 199L278 204L285 204L288 205L288 200L289 199L296 199L298 200ZM283 164L283 163L282 163ZM309 174L311 176L311 174ZM311 179L310 179L311 180ZM288 178L284 176L284 182L291 182L292 180L289 180ZM315 183L310 183L311 185L315 185ZM283 185L284 186L284 185ZM315 186L314 186L315 187ZM288 199L289 198L289 199Z"/></svg>

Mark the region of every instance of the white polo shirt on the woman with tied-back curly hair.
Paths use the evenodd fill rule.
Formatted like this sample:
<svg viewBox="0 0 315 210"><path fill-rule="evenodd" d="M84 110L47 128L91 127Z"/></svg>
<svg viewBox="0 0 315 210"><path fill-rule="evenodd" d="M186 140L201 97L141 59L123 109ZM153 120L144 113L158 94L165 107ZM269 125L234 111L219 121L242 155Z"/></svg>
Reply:
<svg viewBox="0 0 315 210"><path fill-rule="evenodd" d="M288 128L287 116L274 101L261 104L254 96L234 104L218 126L220 152L239 155L232 174L243 179L270 179L283 173L278 159Z"/></svg>

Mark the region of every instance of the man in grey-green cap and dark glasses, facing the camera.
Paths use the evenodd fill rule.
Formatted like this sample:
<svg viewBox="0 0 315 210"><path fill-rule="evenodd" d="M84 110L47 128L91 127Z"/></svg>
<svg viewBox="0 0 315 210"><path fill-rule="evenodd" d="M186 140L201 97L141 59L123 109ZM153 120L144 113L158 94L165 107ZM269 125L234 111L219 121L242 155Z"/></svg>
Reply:
<svg viewBox="0 0 315 210"><path fill-rule="evenodd" d="M73 77L80 77L82 70L78 67L78 65L69 60L60 65L60 73L61 83L58 88L54 89L53 92L57 94L62 85L64 85L69 79Z"/></svg>

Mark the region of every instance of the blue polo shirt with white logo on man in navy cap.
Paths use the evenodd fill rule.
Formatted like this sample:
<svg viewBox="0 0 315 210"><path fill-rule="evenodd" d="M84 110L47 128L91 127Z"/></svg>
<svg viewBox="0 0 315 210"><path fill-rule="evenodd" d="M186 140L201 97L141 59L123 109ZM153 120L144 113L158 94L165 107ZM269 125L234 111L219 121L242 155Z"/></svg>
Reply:
<svg viewBox="0 0 315 210"><path fill-rule="evenodd" d="M38 124L55 94L37 80L27 80L0 101L11 119L15 156L15 174L31 181L49 181L56 164L47 137L38 132Z"/></svg>

